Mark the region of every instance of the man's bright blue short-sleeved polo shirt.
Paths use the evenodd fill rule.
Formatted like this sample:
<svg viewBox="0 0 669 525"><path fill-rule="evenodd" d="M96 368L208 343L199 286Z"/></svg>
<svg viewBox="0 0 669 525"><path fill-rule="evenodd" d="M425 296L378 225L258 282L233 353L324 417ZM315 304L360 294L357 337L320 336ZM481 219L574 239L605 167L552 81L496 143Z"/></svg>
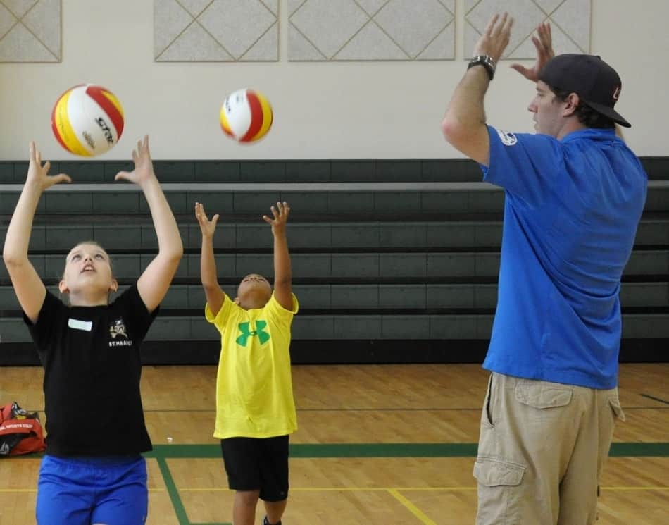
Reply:
<svg viewBox="0 0 669 525"><path fill-rule="evenodd" d="M505 190L499 294L483 364L590 388L618 377L620 276L647 175L614 130L562 140L488 128L484 180Z"/></svg>

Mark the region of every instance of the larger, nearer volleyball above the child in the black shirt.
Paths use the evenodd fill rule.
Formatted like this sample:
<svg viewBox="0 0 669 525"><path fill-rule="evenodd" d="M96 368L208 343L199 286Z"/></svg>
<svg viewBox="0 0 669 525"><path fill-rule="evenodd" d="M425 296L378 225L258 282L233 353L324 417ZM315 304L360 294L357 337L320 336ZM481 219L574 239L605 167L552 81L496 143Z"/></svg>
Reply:
<svg viewBox="0 0 669 525"><path fill-rule="evenodd" d="M104 87L82 84L58 98L51 129L68 152L96 156L111 149L123 133L123 107Z"/></svg>

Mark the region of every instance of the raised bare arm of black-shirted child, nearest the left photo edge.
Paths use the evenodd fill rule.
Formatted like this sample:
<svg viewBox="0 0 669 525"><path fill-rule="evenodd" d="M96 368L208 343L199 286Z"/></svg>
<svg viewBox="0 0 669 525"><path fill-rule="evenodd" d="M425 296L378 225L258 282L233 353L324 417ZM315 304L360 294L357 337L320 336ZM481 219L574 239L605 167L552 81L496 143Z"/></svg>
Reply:
<svg viewBox="0 0 669 525"><path fill-rule="evenodd" d="M71 182L68 175L62 173L49 177L47 175L49 166L49 162L42 166L42 158L35 148L35 143L30 142L28 174L7 228L5 245L2 250L2 259L7 267L18 302L33 324L37 322L39 311L44 304L46 288L28 259L32 220L35 217L39 197L46 188L58 183Z"/></svg>

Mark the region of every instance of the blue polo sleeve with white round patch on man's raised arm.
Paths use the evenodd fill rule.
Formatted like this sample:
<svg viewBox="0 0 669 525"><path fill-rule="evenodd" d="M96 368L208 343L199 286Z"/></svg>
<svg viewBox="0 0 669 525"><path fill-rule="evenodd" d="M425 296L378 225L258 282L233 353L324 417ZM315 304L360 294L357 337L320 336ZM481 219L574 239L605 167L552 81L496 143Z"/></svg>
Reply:
<svg viewBox="0 0 669 525"><path fill-rule="evenodd" d="M564 173L560 142L549 135L508 133L488 126L489 166L481 166L483 180L503 187L527 204L537 205L558 189Z"/></svg>

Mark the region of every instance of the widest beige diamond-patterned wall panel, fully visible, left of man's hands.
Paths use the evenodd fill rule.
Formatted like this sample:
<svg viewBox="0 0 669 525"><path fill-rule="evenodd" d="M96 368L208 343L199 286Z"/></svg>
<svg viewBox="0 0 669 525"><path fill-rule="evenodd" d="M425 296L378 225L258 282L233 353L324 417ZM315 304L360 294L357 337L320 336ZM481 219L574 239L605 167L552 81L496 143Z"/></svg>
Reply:
<svg viewBox="0 0 669 525"><path fill-rule="evenodd" d="M455 0L289 0L290 61L452 60Z"/></svg>

